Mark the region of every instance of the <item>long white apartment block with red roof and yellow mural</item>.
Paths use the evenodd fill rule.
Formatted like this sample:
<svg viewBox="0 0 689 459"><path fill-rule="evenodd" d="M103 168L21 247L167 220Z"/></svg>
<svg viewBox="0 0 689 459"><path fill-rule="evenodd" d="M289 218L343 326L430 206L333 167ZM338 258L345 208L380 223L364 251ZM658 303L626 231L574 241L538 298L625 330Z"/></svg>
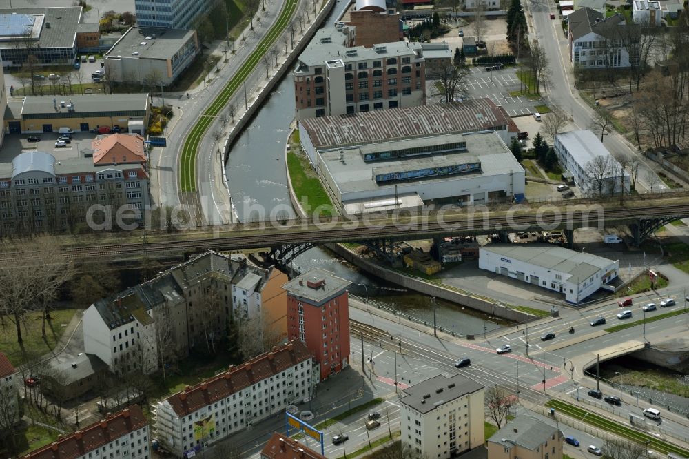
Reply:
<svg viewBox="0 0 689 459"><path fill-rule="evenodd" d="M178 457L308 400L318 365L298 340L261 354L225 373L156 403L156 438Z"/></svg>

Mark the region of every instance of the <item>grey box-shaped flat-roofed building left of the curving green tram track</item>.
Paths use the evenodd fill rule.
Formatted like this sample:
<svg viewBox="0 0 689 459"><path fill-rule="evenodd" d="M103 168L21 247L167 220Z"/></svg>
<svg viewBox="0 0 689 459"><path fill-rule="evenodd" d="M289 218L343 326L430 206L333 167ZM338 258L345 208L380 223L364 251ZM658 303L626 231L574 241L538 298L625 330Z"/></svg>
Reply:
<svg viewBox="0 0 689 459"><path fill-rule="evenodd" d="M132 27L104 54L105 74L119 83L171 85L200 50L196 30Z"/></svg>

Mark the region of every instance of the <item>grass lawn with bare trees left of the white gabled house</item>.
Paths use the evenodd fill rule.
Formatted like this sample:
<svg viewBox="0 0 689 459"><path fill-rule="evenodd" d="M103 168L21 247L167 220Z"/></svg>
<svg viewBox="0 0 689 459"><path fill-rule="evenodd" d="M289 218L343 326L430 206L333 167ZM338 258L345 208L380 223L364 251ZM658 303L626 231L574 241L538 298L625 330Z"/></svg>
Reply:
<svg viewBox="0 0 689 459"><path fill-rule="evenodd" d="M3 317L2 333L0 333L0 349L10 359L12 365L19 367L25 360L32 360L52 351L62 337L65 327L72 320L76 309L60 309L50 312L52 320L45 323L45 340L41 336L41 312L26 314L21 327L23 343L17 343L17 331L14 322L7 316Z"/></svg>

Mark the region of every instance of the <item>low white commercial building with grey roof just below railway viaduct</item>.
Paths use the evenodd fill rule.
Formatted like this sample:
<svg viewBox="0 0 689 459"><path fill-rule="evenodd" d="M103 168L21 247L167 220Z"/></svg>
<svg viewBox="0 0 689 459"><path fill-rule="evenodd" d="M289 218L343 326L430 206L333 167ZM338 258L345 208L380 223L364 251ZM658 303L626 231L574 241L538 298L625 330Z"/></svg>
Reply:
<svg viewBox="0 0 689 459"><path fill-rule="evenodd" d="M478 266L565 295L578 304L617 277L619 261L549 244L489 244L479 250Z"/></svg>

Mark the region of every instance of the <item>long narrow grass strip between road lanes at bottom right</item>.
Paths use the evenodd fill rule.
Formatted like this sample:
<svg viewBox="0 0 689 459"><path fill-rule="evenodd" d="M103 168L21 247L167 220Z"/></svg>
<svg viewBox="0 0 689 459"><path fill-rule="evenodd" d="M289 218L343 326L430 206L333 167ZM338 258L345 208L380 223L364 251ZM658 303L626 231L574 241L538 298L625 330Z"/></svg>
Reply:
<svg viewBox="0 0 689 459"><path fill-rule="evenodd" d="M565 414L570 418L574 418L581 422L586 422L586 424L592 425L597 429L608 431L641 445L648 442L648 448L658 451L659 453L667 454L672 452L680 454L681 456L689 457L689 450L687 449L677 447L671 443L661 440L660 438L650 436L636 429L631 429L630 427L626 427L626 425L618 424L617 422L608 420L602 416L598 416L597 414L591 413L590 411L586 411L579 407L575 407L569 403L562 402L560 400L550 400L546 403L546 406L555 408L555 410L560 414Z"/></svg>

